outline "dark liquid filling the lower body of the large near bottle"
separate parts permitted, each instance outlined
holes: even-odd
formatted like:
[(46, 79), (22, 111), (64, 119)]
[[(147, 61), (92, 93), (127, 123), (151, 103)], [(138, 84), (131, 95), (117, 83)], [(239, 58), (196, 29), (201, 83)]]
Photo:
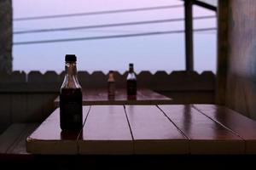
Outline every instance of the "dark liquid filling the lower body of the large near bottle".
[(82, 90), (62, 88), (60, 95), (60, 120), (62, 130), (79, 131), (83, 127)]

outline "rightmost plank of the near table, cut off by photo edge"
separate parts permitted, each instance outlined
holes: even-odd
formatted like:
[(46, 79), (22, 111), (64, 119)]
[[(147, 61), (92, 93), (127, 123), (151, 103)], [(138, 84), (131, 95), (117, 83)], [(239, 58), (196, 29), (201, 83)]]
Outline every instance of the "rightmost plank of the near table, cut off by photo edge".
[(246, 141), (246, 153), (256, 154), (256, 122), (218, 105), (194, 105), (195, 109), (211, 117), (214, 121), (223, 124), (241, 136)]

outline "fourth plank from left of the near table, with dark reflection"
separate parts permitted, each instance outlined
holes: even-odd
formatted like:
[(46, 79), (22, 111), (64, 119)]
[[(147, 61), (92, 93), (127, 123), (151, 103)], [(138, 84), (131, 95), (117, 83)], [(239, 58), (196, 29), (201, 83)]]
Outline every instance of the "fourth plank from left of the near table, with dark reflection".
[(244, 141), (190, 105), (159, 105), (189, 137), (191, 154), (243, 154)]

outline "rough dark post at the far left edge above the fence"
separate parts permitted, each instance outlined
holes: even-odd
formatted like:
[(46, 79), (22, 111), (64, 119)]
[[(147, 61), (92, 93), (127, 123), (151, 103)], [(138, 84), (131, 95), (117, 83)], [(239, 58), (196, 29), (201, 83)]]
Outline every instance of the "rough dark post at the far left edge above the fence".
[(12, 1), (0, 0), (0, 73), (12, 72), (12, 22)]

